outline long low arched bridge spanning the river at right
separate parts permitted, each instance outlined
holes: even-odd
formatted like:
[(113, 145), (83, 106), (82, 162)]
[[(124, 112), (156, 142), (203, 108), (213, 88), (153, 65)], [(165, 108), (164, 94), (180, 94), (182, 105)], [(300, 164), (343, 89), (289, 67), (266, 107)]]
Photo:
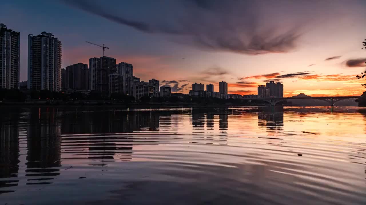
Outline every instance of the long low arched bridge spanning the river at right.
[(334, 104), (338, 101), (350, 99), (350, 98), (359, 98), (361, 96), (326, 96), (326, 97), (282, 97), (282, 98), (241, 98), (242, 100), (260, 100), (268, 102), (270, 105), (275, 106), (278, 102), (285, 100), (297, 100), (297, 99), (316, 99), (323, 100), (329, 102), (330, 106), (334, 106)]

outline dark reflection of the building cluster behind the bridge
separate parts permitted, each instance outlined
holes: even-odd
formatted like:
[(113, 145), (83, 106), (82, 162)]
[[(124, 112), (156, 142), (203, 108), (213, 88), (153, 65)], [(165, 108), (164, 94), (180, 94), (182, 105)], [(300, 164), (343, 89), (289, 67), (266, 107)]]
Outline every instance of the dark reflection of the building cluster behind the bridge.
[(283, 130), (283, 107), (258, 107), (258, 127)]

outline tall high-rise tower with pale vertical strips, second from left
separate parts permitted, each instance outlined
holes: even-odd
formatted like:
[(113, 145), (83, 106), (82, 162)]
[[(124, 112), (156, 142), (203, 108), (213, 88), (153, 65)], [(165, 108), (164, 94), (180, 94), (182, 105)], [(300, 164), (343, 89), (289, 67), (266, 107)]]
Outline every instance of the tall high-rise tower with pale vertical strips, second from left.
[(52, 33), (28, 35), (28, 89), (61, 90), (61, 41)]

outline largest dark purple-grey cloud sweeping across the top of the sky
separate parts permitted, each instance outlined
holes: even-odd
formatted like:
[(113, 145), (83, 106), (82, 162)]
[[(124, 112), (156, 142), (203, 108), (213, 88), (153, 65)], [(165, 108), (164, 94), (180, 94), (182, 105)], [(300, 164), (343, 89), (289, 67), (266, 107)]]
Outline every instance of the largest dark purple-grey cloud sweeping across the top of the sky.
[[(288, 53), (296, 48), (305, 20), (288, 18), (287, 13), (306, 4), (291, 1), (177, 1), (171, 8), (159, 5), (159, 16), (123, 17), (119, 9), (110, 9), (93, 0), (63, 0), (68, 5), (146, 33), (171, 35), (175, 42), (212, 51), (258, 55)], [(155, 2), (156, 3), (156, 2)], [(158, 3), (156, 3), (158, 4)], [(286, 7), (283, 5), (287, 5)], [(123, 5), (114, 5), (116, 8)], [(271, 11), (268, 12), (268, 8)], [(307, 11), (306, 9), (303, 9)], [(310, 10), (309, 10), (310, 11)], [(282, 13), (283, 15), (275, 15)], [(134, 19), (132, 19), (134, 18)], [(141, 20), (135, 20), (139, 18)], [(272, 19), (271, 24), (266, 19)], [(275, 18), (277, 20), (275, 20)], [(283, 19), (290, 19), (284, 21)], [(194, 22), (194, 23), (192, 23)], [(285, 23), (287, 22), (287, 23)]]

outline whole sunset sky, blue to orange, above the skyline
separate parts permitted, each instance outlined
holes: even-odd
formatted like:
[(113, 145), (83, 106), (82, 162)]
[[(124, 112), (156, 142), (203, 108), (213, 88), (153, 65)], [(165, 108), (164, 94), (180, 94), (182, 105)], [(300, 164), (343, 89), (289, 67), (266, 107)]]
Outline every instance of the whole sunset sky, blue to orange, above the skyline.
[(228, 82), (257, 94), (274, 80), (284, 96), (359, 95), (365, 70), (362, 0), (56, 0), (0, 2), (0, 23), (20, 32), (20, 81), (27, 80), (27, 35), (51, 32), (62, 66), (105, 55), (133, 65), (134, 76), (172, 92), (192, 83)]

